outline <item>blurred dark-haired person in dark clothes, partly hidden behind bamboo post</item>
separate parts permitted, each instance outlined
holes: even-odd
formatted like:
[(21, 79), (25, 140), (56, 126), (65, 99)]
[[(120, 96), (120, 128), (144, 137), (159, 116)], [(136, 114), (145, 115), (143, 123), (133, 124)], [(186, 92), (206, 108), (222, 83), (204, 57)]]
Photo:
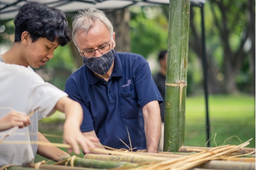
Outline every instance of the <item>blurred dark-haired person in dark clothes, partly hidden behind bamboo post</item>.
[[(153, 76), (153, 79), (157, 85), (157, 88), (165, 100), (165, 79), (166, 79), (166, 68), (167, 68), (167, 51), (160, 51), (158, 55), (158, 61), (160, 64), (159, 72)], [(163, 151), (163, 132), (164, 132), (164, 102), (160, 104), (160, 113), (161, 113), (161, 138), (159, 143), (159, 151)]]

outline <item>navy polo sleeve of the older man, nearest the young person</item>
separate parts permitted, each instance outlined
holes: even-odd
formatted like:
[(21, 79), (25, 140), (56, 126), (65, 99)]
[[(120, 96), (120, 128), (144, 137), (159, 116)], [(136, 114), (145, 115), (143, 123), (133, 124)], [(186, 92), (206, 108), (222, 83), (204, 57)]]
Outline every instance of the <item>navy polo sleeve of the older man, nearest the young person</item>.
[[(91, 115), (91, 111), (88, 108), (87, 104), (82, 100), (79, 91), (77, 89), (76, 83), (72, 78), (69, 78), (67, 80), (66, 86), (65, 86), (65, 92), (69, 94), (69, 98), (80, 103), (83, 109), (83, 120), (81, 124), (81, 131), (82, 132), (90, 132), (94, 130), (93, 126), (93, 119)], [(86, 95), (86, 94), (83, 94)]]

